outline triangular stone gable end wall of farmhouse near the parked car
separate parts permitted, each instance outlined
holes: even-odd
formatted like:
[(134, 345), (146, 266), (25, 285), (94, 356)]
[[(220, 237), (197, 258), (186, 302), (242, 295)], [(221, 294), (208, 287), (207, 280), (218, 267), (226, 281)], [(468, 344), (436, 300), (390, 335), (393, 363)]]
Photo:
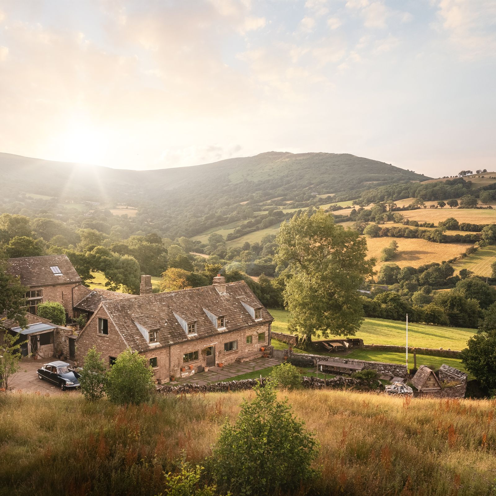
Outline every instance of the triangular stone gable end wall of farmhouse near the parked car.
[[(109, 334), (98, 333), (98, 317), (106, 318), (109, 321)], [(68, 343), (67, 343), (68, 346)], [(110, 357), (117, 357), (125, 349), (125, 343), (118, 330), (115, 328), (108, 313), (100, 307), (91, 318), (76, 339), (75, 359), (80, 365), (84, 363), (84, 357), (93, 346), (102, 354), (102, 359), (110, 365)], [(67, 350), (68, 353), (68, 350)]]

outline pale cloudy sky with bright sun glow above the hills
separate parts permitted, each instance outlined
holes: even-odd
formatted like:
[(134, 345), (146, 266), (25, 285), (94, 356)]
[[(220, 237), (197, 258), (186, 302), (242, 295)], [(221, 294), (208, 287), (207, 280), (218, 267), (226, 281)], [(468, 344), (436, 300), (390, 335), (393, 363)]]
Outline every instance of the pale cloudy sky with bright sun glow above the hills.
[(0, 152), (496, 170), (495, 0), (0, 0)]

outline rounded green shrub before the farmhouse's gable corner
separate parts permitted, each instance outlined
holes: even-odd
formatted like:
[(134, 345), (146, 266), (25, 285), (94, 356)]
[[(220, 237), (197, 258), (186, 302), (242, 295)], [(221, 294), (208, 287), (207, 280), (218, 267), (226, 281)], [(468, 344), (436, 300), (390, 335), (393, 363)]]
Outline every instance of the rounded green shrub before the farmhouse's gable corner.
[(138, 405), (147, 401), (154, 389), (153, 370), (137, 352), (121, 353), (107, 373), (105, 393), (113, 403)]

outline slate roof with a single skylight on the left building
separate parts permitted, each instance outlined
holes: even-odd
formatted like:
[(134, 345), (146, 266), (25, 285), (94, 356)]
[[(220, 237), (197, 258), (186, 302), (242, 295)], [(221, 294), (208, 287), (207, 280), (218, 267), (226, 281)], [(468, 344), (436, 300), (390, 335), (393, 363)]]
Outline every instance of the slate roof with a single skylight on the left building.
[[(55, 275), (50, 267), (59, 267), (62, 274)], [(19, 276), (21, 283), (29, 287), (81, 282), (67, 255), (9, 258), (7, 272)]]

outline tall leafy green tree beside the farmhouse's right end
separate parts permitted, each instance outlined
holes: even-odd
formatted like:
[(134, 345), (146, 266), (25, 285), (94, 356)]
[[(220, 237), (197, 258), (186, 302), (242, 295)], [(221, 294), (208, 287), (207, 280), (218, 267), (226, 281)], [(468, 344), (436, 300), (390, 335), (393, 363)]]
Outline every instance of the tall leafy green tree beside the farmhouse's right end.
[(358, 289), (374, 264), (365, 258), (366, 240), (317, 210), (283, 223), (277, 243), (276, 261), (288, 263), (294, 274), (284, 290), (290, 329), (307, 339), (316, 333), (355, 334), (364, 315)]

